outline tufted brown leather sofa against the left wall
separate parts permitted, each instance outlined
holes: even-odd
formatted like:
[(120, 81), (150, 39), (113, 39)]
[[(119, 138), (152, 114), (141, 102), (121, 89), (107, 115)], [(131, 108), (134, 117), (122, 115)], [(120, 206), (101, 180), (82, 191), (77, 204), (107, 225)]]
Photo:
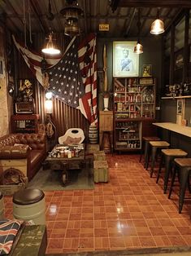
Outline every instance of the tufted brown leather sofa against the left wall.
[(46, 158), (46, 135), (11, 134), (0, 138), (0, 174), (15, 168), (32, 179)]

